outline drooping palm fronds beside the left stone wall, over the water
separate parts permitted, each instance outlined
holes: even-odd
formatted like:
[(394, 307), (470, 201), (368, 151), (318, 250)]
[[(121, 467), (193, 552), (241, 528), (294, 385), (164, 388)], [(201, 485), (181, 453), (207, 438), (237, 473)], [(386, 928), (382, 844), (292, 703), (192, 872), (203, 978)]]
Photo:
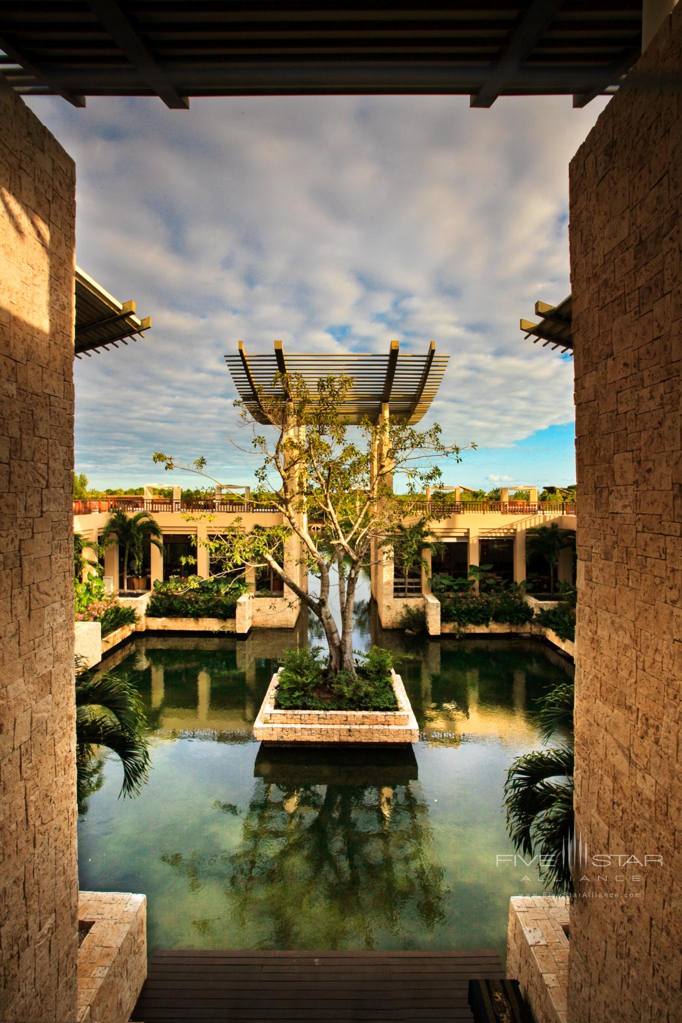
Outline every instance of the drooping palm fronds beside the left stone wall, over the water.
[(95, 747), (106, 746), (123, 764), (122, 796), (140, 791), (149, 770), (142, 701), (131, 681), (115, 671), (95, 674), (76, 659), (76, 767), (79, 812), (101, 785)]

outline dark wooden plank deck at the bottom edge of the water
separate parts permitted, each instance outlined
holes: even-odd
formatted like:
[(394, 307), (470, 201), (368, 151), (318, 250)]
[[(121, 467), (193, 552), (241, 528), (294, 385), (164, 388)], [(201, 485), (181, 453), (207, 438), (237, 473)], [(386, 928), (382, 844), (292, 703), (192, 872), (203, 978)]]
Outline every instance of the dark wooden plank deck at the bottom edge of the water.
[(160, 951), (131, 1020), (471, 1020), (469, 979), (503, 976), (489, 951)]

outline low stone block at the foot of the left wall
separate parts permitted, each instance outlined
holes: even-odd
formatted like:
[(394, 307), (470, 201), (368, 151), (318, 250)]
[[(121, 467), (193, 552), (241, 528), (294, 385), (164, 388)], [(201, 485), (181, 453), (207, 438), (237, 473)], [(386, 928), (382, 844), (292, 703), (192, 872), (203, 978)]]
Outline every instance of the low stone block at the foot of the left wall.
[(147, 900), (81, 892), (90, 930), (78, 952), (78, 1023), (128, 1023), (147, 975)]

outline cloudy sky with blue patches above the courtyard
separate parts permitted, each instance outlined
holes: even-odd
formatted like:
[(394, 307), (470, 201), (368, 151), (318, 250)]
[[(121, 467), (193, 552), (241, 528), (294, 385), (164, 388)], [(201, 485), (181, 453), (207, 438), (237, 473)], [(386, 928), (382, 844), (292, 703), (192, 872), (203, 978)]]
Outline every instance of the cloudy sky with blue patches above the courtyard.
[[(569, 161), (607, 100), (57, 98), (30, 105), (77, 165), (77, 262), (134, 299), (137, 344), (76, 360), (76, 470), (172, 480), (154, 450), (253, 484), (224, 355), (425, 353), (450, 362), (423, 426), (466, 450), (444, 481), (575, 482), (573, 364), (519, 317), (570, 292)], [(177, 474), (176, 474), (177, 475)]]

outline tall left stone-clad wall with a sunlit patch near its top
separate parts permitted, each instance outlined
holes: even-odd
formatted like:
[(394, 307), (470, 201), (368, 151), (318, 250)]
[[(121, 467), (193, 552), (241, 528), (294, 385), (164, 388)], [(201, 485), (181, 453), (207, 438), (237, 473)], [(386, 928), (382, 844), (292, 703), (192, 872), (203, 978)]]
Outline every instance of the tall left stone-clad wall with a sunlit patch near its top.
[(0, 81), (0, 1020), (77, 1015), (75, 167)]

